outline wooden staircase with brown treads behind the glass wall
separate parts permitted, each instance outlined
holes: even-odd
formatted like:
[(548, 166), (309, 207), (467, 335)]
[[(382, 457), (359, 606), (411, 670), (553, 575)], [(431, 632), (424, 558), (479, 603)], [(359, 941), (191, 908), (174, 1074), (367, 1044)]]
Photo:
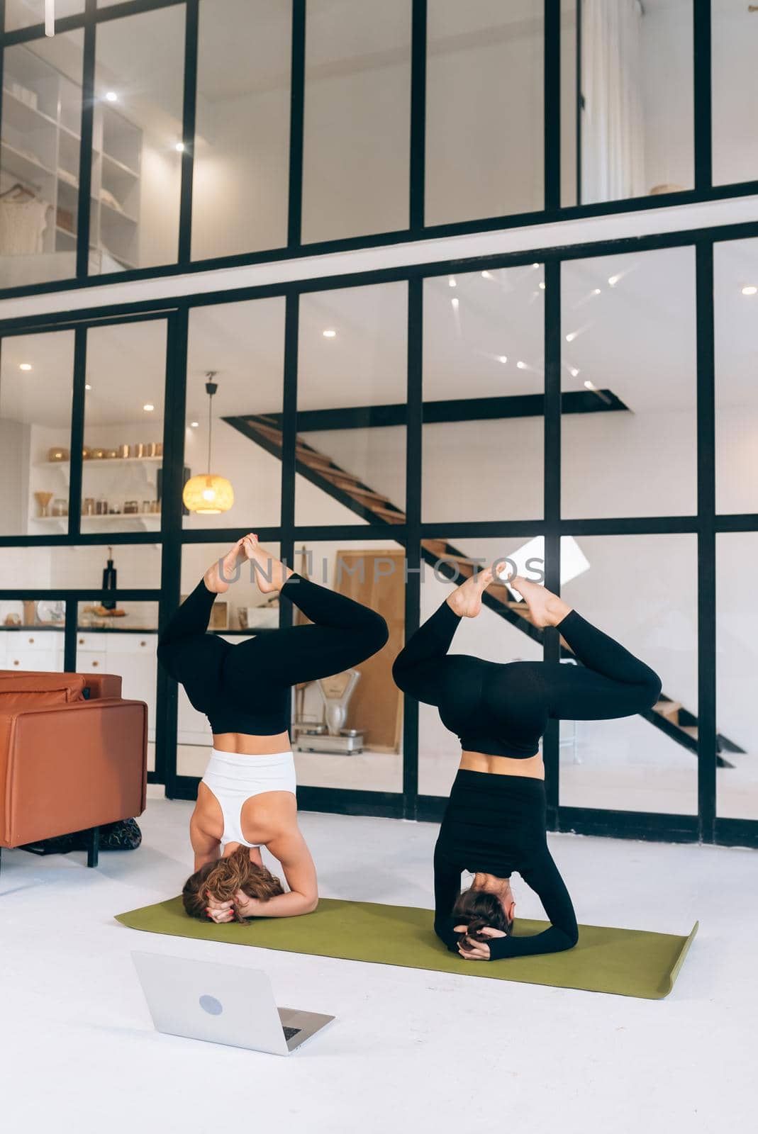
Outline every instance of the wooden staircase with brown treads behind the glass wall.
[[(266, 449), (267, 452), (281, 459), (283, 435), (277, 417), (258, 414), (225, 417), (224, 421)], [(331, 457), (314, 449), (302, 437), (297, 437), (295, 440), (295, 468), (311, 484), (370, 524), (379, 522), (391, 526), (405, 523), (405, 513), (388, 497), (374, 492), (359, 476), (342, 468)], [(471, 577), (478, 566), (475, 560), (468, 558), (458, 548), (446, 540), (422, 540), (421, 555), (424, 562), (435, 566), (440, 575), (445, 575), (452, 581), (461, 582), (463, 578)], [(482, 601), (489, 610), (495, 611), (500, 618), (505, 618), (532, 641), (542, 643), (544, 632), (532, 624), (527, 603), (516, 602), (505, 583), (494, 583), (489, 586), (482, 595)], [(565, 659), (574, 657), (563, 641), (561, 642), (561, 657)], [(698, 719), (679, 701), (662, 693), (658, 702), (640, 716), (671, 739), (697, 755)], [(744, 752), (744, 748), (717, 733), (717, 765), (732, 768), (733, 765), (722, 755), (723, 751)]]

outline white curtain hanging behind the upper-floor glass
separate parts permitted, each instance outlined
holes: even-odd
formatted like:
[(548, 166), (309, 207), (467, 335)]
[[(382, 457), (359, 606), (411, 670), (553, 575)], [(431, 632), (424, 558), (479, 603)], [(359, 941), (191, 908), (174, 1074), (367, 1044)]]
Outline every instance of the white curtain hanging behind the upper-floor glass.
[(641, 196), (639, 0), (582, 0), (582, 203)]

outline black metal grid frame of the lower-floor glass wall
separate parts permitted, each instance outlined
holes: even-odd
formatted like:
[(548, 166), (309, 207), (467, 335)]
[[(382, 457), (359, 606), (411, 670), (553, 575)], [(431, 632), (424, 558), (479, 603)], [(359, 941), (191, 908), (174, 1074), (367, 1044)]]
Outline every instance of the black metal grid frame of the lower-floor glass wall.
[[(235, 303), (270, 296), (284, 296), (284, 451), (281, 462), (281, 523), (260, 531), (262, 541), (278, 541), (281, 553), (292, 561), (297, 542), (306, 540), (340, 540), (362, 542), (367, 539), (391, 539), (406, 549), (409, 566), (418, 567), (422, 539), (544, 534), (546, 540), (547, 584), (557, 590), (561, 535), (629, 535), (687, 533), (698, 541), (698, 811), (697, 814), (664, 814), (612, 809), (570, 807), (559, 803), (559, 765), (557, 728), (548, 729), (544, 753), (548, 773), (548, 823), (550, 830), (576, 831), (586, 835), (702, 841), (723, 845), (758, 846), (758, 820), (730, 819), (716, 811), (716, 536), (722, 532), (758, 531), (758, 513), (717, 514), (715, 497), (715, 357), (714, 357), (714, 246), (725, 242), (758, 237), (758, 221), (707, 229), (665, 232), (655, 236), (621, 238), (576, 244), (559, 248), (532, 248), (527, 252), (477, 256), (401, 268), (318, 277), (292, 282), (241, 287), (222, 293), (204, 293), (174, 299), (153, 299), (111, 306), (98, 306), (70, 313), (59, 312), (33, 319), (0, 321), (0, 338), (34, 331), (70, 329), (77, 333), (75, 353), (77, 372), (75, 391), (83, 389), (89, 325), (134, 319), (167, 318), (169, 322), (168, 364), (166, 372), (165, 424), (165, 499), (161, 530), (155, 533), (112, 533), (81, 535), (74, 511), (69, 532), (57, 538), (0, 536), (2, 547), (50, 547), (74, 543), (106, 545), (108, 543), (154, 543), (162, 545), (160, 589), (123, 591), (120, 599), (159, 601), (159, 626), (176, 608), (179, 599), (182, 549), (187, 543), (229, 542), (244, 534), (243, 528), (183, 530), (180, 486), (186, 389), (186, 357), (189, 312), (199, 306)], [(561, 515), (561, 265), (563, 262), (658, 248), (693, 247), (696, 253), (697, 304), (697, 513), (677, 516), (563, 519)], [(545, 455), (544, 516), (530, 521), (485, 521), (458, 523), (424, 523), (421, 516), (422, 429), (423, 429), (423, 280), (430, 277), (464, 274), (466, 271), (495, 270), (540, 262), (545, 265)], [(407, 420), (406, 420), (406, 522), (402, 525), (302, 525), (295, 523), (295, 434), (297, 429), (297, 331), (300, 296), (335, 288), (371, 284), (406, 281), (407, 312)], [(75, 412), (83, 411), (83, 396), (75, 392)], [(79, 407), (77, 409), (77, 407)], [(74, 450), (73, 450), (74, 452)], [(81, 457), (78, 457), (81, 460)], [(81, 477), (71, 467), (71, 482)], [(465, 502), (461, 502), (462, 513)], [(71, 530), (74, 527), (74, 531)], [(406, 589), (406, 635), (419, 625), (420, 579), (411, 572)], [(57, 598), (67, 599), (66, 666), (75, 663), (76, 601), (92, 598), (92, 590), (19, 591), (0, 590), (0, 599)], [(557, 655), (557, 638), (547, 636), (545, 655)], [(157, 702), (157, 768), (150, 779), (166, 785), (171, 798), (194, 798), (197, 779), (178, 776), (176, 769), (176, 685), (159, 671)], [(298, 790), (301, 807), (339, 814), (387, 815), (391, 818), (439, 820), (445, 799), (419, 794), (418, 705), (405, 699), (403, 790), (399, 793), (361, 792), (348, 788), (303, 787)]]

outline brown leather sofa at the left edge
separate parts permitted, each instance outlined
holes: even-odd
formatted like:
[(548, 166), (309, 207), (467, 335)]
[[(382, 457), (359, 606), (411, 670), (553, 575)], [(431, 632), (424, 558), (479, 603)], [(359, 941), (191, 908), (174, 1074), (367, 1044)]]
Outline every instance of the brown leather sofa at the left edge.
[(0, 669), (0, 848), (90, 831), (141, 815), (148, 705), (111, 674)]

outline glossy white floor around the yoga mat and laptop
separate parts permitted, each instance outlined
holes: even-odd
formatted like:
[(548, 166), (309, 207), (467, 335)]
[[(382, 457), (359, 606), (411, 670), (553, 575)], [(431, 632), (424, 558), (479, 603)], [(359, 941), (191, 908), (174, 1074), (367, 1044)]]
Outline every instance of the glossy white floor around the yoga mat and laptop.
[[(157, 789), (152, 789), (153, 793)], [(153, 797), (140, 850), (2, 852), (2, 1126), (36, 1134), (541, 1134), (755, 1128), (758, 852), (550, 838), (580, 921), (685, 933), (664, 1001), (151, 937), (112, 920), (178, 892), (191, 805)], [(431, 824), (304, 814), (325, 896), (430, 903)], [(523, 883), (522, 915), (540, 916)], [(289, 1059), (157, 1034), (129, 950), (264, 968), (338, 1019)]]

